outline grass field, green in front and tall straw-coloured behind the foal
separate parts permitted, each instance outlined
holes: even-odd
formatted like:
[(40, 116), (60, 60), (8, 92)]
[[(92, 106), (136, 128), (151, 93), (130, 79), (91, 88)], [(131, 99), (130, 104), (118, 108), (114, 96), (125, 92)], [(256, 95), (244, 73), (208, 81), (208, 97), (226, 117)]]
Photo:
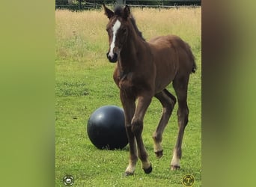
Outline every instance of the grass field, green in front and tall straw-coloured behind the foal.
[[(153, 165), (144, 174), (138, 162), (135, 174), (124, 177), (128, 147), (98, 150), (86, 132), (90, 114), (103, 105), (121, 106), (118, 88), (112, 80), (115, 64), (106, 59), (108, 19), (103, 11), (56, 10), (55, 60), (55, 186), (71, 174), (73, 186), (183, 186), (186, 174), (201, 186), (201, 8), (170, 10), (132, 8), (138, 28), (146, 40), (177, 34), (192, 47), (198, 70), (189, 82), (189, 124), (183, 138), (183, 158), (178, 171), (170, 170), (177, 138), (177, 105), (163, 134), (164, 156), (156, 159), (151, 135), (162, 112), (153, 99), (144, 118), (144, 144)], [(173, 92), (171, 85), (168, 90)]]

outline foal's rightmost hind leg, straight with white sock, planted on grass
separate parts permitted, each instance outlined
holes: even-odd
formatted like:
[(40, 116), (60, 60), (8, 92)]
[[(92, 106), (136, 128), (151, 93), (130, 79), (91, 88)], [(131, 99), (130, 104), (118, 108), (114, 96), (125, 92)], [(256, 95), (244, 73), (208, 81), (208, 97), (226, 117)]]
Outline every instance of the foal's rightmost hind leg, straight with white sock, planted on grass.
[(178, 135), (177, 141), (174, 147), (173, 157), (171, 159), (171, 170), (176, 170), (180, 168), (180, 159), (182, 155), (181, 145), (183, 141), (183, 134), (186, 127), (186, 124), (189, 121), (189, 108), (187, 105), (187, 88), (188, 88), (189, 76), (176, 78), (173, 81), (174, 91), (177, 94), (178, 100), (178, 110), (177, 110), (177, 118), (178, 118)]

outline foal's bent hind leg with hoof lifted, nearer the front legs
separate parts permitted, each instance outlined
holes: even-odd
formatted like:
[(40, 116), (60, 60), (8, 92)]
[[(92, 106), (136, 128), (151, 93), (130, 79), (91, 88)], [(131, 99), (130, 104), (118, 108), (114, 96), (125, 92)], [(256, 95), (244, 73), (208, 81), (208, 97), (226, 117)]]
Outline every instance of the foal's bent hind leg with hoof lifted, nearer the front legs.
[(166, 89), (164, 89), (160, 93), (156, 93), (155, 97), (159, 99), (162, 104), (162, 117), (159, 121), (158, 126), (156, 127), (156, 131), (153, 132), (153, 151), (155, 152), (157, 158), (161, 158), (163, 155), (163, 150), (161, 146), (162, 133), (168, 123), (168, 120), (171, 117), (171, 112), (176, 103), (176, 99), (175, 96), (169, 93)]

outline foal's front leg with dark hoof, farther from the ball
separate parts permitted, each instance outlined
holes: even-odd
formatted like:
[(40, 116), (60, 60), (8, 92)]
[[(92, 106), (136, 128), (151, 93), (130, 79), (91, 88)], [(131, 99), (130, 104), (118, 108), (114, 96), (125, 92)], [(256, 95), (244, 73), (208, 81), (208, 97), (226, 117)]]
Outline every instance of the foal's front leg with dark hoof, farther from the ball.
[(140, 96), (138, 97), (138, 104), (135, 109), (135, 114), (132, 117), (132, 133), (135, 135), (135, 139), (137, 141), (138, 146), (138, 157), (141, 159), (142, 168), (145, 174), (150, 174), (152, 171), (152, 166), (149, 160), (147, 159), (147, 151), (144, 147), (143, 140), (141, 137), (142, 130), (143, 130), (143, 119), (144, 114), (147, 111), (147, 107), (150, 105), (151, 102), (150, 96)]

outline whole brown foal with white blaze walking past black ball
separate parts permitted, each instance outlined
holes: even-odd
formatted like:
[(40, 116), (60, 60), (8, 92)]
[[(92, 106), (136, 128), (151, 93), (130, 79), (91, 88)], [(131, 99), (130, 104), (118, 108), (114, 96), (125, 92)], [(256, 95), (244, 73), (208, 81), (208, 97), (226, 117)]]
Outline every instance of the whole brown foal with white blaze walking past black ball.
[(187, 105), (189, 75), (195, 73), (196, 69), (192, 51), (186, 42), (174, 35), (145, 41), (128, 6), (115, 7), (114, 11), (109, 10), (105, 5), (103, 8), (109, 18), (106, 27), (109, 34), (107, 58), (110, 62), (118, 62), (113, 78), (120, 89), (129, 139), (129, 165), (125, 174), (134, 174), (138, 158), (141, 159), (146, 174), (152, 171), (141, 133), (144, 114), (153, 96), (162, 104), (162, 117), (156, 131), (153, 132), (153, 150), (157, 158), (162, 156), (162, 133), (176, 103), (175, 96), (166, 90), (171, 82), (177, 96), (179, 128), (171, 169), (180, 168), (181, 144), (189, 116)]

